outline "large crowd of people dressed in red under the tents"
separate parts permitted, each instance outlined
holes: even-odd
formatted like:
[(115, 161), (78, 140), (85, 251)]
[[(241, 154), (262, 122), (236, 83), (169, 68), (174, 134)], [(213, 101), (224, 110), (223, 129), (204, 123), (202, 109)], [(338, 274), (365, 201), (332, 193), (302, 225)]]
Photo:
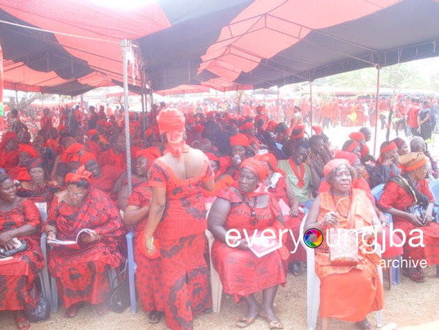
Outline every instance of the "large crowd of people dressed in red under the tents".
[[(435, 130), (431, 109), (438, 104), (430, 107), (430, 100), (423, 100), (421, 108), (416, 98), (399, 102), (408, 107), (410, 138), (382, 142), (378, 158), (369, 151), (367, 125), (352, 128), (342, 146), (332, 145), (324, 133), (345, 119), (351, 126), (366, 124), (360, 113), (370, 112), (357, 101), (349, 103), (346, 117), (347, 106), (322, 102), (321, 125), (312, 127), (304, 103), (288, 103), (288, 121), (279, 123), (264, 105), (254, 113), (252, 108), (244, 114), (185, 108), (183, 114), (162, 103), (147, 117), (130, 114), (130, 150), (123, 120), (103, 106), (98, 112), (79, 105), (45, 109), (36, 133), (11, 110), (0, 142), (0, 248), (6, 253), (0, 255), (0, 310), (14, 311), (17, 329), (31, 327), (27, 315), (43, 299), (35, 280), (44, 267), (39, 238), (45, 232), (48, 241), (77, 241), (75, 248), (49, 249), (49, 272), (66, 317), (75, 317), (84, 303), (97, 315), (107, 314), (108, 270), (123, 268), (125, 234), (134, 227), (135, 283), (149, 322), (164, 317), (166, 329), (194, 329), (194, 317), (212, 305), (206, 262), (211, 257), (224, 293), (247, 304), (238, 327), (263, 317), (269, 329), (284, 329), (275, 311), (277, 289), (288, 271), (296, 276), (302, 271), (306, 251), (295, 249), (286, 235), (277, 237), (281, 248), (258, 257), (244, 237), (267, 229), (299, 237), (305, 220), (305, 230), (337, 227), (369, 239), (379, 236), (383, 255), (364, 253), (360, 244), (355, 264), (333, 263), (326, 243), (316, 249), (322, 329), (329, 329), (331, 318), (372, 329), (367, 315), (384, 305), (380, 257), (439, 264), (439, 225), (428, 185), (439, 170), (424, 141)], [(417, 126), (410, 126), (413, 113)], [(130, 177), (127, 152), (133, 160)], [(371, 189), (380, 185), (383, 194), (376, 201)], [(35, 203), (45, 204), (45, 223)], [(206, 205), (211, 205), (208, 213)], [(385, 213), (407, 237), (400, 248), (390, 246), (390, 235), (393, 241), (402, 237), (390, 232)], [(409, 246), (414, 228), (422, 231), (424, 247)], [(215, 238), (210, 255), (206, 230)], [(232, 241), (230, 230), (239, 234)], [(17, 241), (25, 241), (26, 248), (6, 256)], [(415, 282), (425, 280), (419, 266), (402, 271)]]

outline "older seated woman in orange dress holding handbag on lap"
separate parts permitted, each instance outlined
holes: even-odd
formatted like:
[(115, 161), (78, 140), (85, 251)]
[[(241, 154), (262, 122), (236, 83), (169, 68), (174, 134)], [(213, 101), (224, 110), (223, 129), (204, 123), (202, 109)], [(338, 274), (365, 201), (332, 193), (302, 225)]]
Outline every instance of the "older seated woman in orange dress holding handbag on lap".
[[(324, 167), (330, 190), (320, 193), (309, 210), (305, 232), (316, 228), (325, 232), (329, 227), (362, 230), (364, 239), (371, 238), (382, 226), (363, 190), (352, 188), (354, 170), (346, 159), (331, 160)], [(373, 229), (372, 227), (373, 226)], [(331, 264), (325, 240), (316, 248), (316, 273), (321, 280), (321, 329), (328, 330), (330, 318), (356, 322), (360, 329), (372, 329), (367, 314), (383, 308), (383, 285), (377, 264), (378, 256), (365, 253), (360, 236), (356, 266)]]

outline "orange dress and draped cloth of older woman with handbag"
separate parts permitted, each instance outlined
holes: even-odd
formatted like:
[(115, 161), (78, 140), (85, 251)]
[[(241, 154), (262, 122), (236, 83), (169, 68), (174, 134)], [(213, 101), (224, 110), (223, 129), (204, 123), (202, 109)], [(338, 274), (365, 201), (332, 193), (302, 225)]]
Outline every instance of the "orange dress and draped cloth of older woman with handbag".
[[(328, 191), (320, 193), (320, 197), (318, 222), (323, 221), (329, 211), (335, 211), (340, 199)], [(348, 218), (339, 216), (339, 227), (358, 229), (371, 225), (372, 212), (373, 207), (366, 193), (353, 189), (350, 212), (346, 209), (349, 216)], [(323, 232), (323, 237), (325, 236), (326, 232)], [(348, 322), (360, 322), (367, 314), (383, 308), (383, 284), (377, 269), (379, 257), (375, 254), (364, 254), (361, 248), (358, 251), (360, 262), (356, 266), (334, 266), (330, 263), (326, 239), (323, 239), (322, 245), (316, 248), (316, 273), (321, 280), (322, 318), (332, 317)]]

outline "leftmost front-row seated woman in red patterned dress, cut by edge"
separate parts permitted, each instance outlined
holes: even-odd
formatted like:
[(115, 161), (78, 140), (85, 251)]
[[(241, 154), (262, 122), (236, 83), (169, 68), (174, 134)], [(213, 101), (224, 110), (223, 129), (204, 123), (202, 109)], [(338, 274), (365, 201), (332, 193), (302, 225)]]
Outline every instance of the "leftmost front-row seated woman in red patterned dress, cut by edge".
[[(15, 238), (26, 241), (27, 249), (0, 259), (0, 310), (14, 310), (17, 329), (31, 327), (24, 310), (39, 301), (34, 280), (44, 268), (40, 250), (41, 218), (31, 200), (17, 197), (13, 180), (0, 174), (0, 248), (14, 248)], [(17, 262), (17, 260), (20, 260)]]

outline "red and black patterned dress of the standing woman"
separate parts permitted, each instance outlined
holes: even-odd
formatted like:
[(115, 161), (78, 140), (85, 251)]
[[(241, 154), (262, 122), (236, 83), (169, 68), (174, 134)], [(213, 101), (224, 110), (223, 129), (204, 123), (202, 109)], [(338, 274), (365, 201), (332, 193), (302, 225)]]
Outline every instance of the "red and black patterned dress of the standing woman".
[(194, 329), (193, 317), (212, 306), (204, 252), (207, 228), (201, 182), (213, 179), (208, 160), (199, 177), (179, 180), (156, 159), (149, 171), (151, 187), (166, 187), (166, 205), (154, 237), (160, 239), (164, 314), (172, 330)]

